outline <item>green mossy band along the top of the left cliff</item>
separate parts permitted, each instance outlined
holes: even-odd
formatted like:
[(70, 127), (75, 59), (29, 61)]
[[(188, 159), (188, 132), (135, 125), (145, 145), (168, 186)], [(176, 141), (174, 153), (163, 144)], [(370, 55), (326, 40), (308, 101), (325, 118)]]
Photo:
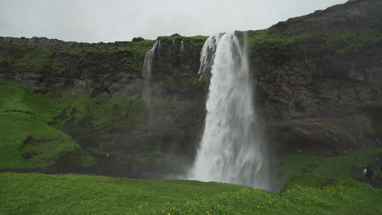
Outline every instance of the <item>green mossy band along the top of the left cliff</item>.
[(73, 49), (41, 49), (27, 46), (15, 46), (0, 43), (0, 49), (9, 53), (6, 58), (0, 58), (0, 64), (5, 63), (11, 68), (8, 76), (16, 72), (62, 72), (77, 71), (87, 68), (99, 72), (128, 71), (141, 72), (144, 56), (154, 41), (124, 42), (119, 46), (84, 46)]

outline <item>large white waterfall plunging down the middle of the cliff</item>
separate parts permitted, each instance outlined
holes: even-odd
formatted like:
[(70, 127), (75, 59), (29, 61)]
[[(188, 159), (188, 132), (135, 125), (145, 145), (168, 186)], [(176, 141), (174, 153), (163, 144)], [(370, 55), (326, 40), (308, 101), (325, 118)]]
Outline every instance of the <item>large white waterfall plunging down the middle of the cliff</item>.
[(265, 189), (265, 144), (255, 123), (253, 81), (246, 49), (234, 33), (207, 39), (199, 73), (209, 72), (205, 128), (189, 179)]

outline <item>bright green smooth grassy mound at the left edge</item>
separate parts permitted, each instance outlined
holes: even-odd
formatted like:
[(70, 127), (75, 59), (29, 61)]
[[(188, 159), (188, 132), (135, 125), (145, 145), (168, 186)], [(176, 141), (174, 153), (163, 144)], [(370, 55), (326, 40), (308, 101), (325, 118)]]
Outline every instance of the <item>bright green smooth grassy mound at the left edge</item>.
[[(60, 114), (57, 100), (28, 87), (0, 80), (0, 168), (57, 167), (56, 160), (79, 148), (71, 137), (47, 125)], [(23, 153), (39, 153), (25, 161), (20, 153), (28, 137), (37, 142)]]

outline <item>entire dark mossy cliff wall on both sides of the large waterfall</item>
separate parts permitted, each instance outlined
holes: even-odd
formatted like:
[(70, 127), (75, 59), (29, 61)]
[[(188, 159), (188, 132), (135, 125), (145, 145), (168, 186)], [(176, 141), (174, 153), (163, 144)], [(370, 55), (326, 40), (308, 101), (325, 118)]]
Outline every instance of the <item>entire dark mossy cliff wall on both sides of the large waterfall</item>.
[[(269, 29), (236, 32), (243, 41), (248, 36), (255, 106), (270, 143), (345, 150), (382, 135), (381, 20), (379, 0), (353, 0)], [(56, 96), (94, 98), (87, 107), (71, 105), (52, 125), (79, 144), (186, 151), (198, 142), (205, 116), (208, 80), (199, 81), (197, 71), (206, 38), (158, 37), (152, 112), (140, 105), (146, 104), (144, 55), (155, 41), (87, 44), (0, 37), (0, 78)], [(102, 116), (89, 106), (109, 102), (112, 108), (104, 108), (108, 122), (98, 122)], [(133, 122), (121, 122), (126, 119)]]

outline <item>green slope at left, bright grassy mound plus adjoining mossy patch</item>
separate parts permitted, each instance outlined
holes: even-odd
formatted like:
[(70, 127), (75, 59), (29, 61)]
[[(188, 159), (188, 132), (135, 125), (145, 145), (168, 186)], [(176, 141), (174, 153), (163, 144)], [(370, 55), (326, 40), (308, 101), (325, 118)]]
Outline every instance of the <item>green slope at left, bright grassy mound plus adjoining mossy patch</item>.
[(60, 131), (65, 124), (76, 129), (74, 124), (86, 123), (79, 130), (86, 136), (143, 126), (139, 123), (147, 113), (140, 99), (89, 98), (73, 91), (55, 98), (40, 90), (0, 80), (0, 169), (77, 169), (81, 160), (83, 167), (91, 166), (95, 161), (89, 153)]

